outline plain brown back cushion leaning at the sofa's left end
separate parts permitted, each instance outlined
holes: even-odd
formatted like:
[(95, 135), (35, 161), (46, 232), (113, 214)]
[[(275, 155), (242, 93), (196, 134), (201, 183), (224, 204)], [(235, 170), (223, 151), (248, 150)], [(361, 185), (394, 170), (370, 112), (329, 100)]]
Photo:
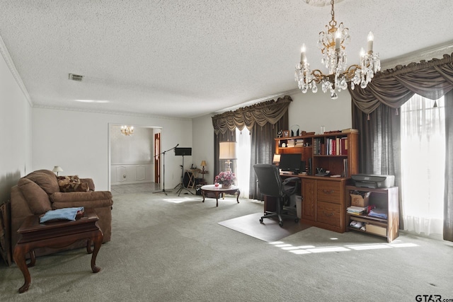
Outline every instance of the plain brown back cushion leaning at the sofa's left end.
[(52, 209), (49, 195), (38, 184), (28, 178), (21, 178), (17, 185), (33, 214), (42, 214)]

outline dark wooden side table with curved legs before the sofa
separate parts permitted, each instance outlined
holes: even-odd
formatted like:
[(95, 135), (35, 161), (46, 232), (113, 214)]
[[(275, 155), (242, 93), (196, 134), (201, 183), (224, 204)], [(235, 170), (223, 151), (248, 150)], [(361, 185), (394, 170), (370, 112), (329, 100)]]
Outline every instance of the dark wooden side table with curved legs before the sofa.
[[(28, 216), (18, 229), (21, 238), (18, 240), (13, 252), (13, 259), (21, 269), (25, 283), (19, 293), (28, 291), (31, 283), (28, 267), (35, 266), (35, 248), (62, 248), (78, 240), (86, 240), (86, 251), (91, 255), (91, 270), (96, 273), (101, 267), (96, 266), (96, 256), (101, 248), (103, 233), (98, 227), (98, 216), (94, 209), (85, 209), (81, 219), (75, 221), (59, 221), (40, 223), (38, 215)], [(94, 250), (91, 250), (91, 243)], [(25, 256), (30, 253), (30, 263), (25, 263)]]

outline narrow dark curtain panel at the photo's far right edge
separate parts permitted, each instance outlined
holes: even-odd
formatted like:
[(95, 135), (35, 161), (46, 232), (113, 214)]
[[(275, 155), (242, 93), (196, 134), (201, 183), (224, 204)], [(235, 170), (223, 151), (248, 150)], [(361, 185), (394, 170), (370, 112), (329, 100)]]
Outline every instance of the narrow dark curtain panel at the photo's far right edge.
[(453, 241), (453, 91), (445, 95), (444, 239)]

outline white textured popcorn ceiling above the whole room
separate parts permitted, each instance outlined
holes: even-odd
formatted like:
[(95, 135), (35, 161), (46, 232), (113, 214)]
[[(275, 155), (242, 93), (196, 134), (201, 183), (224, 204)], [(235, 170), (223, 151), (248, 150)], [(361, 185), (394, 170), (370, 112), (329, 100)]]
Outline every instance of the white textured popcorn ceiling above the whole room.
[[(296, 89), (302, 42), (311, 68), (324, 70), (316, 41), (330, 6), (306, 2), (0, 0), (2, 53), (36, 107), (196, 117)], [(348, 63), (358, 63), (369, 30), (386, 68), (414, 51), (450, 51), (452, 6), (340, 1), (335, 17), (350, 29)], [(69, 73), (84, 80), (69, 81)]]

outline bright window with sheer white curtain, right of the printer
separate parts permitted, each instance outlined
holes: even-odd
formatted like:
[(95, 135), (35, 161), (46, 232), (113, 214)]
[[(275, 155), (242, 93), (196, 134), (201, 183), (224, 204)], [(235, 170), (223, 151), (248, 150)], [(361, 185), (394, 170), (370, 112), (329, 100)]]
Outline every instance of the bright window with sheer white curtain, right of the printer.
[(406, 231), (442, 234), (445, 102), (414, 95), (401, 106), (401, 197)]

